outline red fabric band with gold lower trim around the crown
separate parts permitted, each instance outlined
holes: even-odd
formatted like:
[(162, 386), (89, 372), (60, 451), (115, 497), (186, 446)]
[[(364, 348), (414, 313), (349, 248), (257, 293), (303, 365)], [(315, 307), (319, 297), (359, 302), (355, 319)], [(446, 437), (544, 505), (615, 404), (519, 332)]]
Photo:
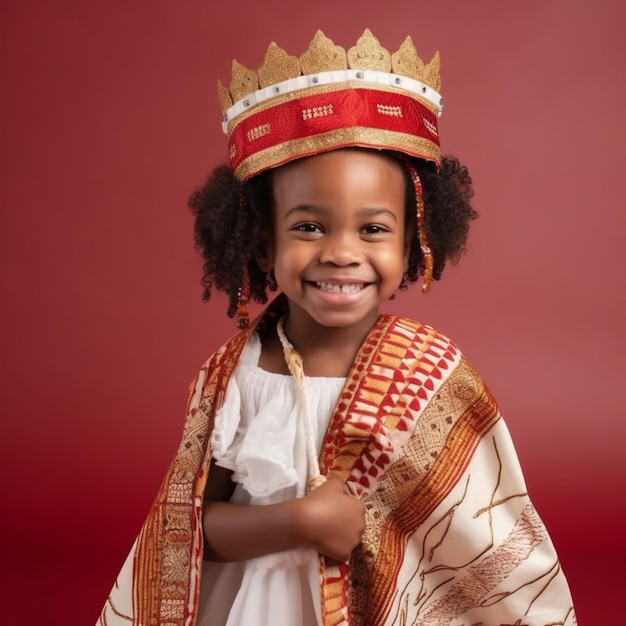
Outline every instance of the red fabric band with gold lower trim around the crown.
[(401, 93), (348, 88), (289, 97), (236, 123), (231, 165), (241, 179), (265, 169), (348, 146), (399, 150), (439, 161), (437, 115)]

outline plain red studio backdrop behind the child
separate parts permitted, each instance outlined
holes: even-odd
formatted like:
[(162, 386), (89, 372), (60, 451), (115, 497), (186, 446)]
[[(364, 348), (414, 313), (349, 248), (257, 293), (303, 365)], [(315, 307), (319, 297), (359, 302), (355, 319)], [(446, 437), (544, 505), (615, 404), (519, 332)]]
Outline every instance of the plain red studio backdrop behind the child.
[[(172, 457), (187, 385), (234, 331), (200, 300), (186, 199), (226, 155), (215, 83), (270, 39), (372, 28), (441, 50), (470, 253), (391, 308), (491, 386), (581, 624), (616, 623), (626, 348), (620, 1), (2, 3), (3, 624), (95, 621)], [(621, 590), (621, 585), (619, 586)], [(615, 594), (615, 595), (614, 595)], [(43, 618), (43, 619), (42, 619)]]

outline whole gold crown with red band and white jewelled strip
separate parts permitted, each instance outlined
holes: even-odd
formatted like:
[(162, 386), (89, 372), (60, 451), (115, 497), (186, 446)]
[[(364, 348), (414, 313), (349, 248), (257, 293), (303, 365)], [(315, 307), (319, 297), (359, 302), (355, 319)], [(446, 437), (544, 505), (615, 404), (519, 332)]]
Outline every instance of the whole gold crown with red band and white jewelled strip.
[(240, 180), (347, 147), (441, 162), (439, 53), (424, 63), (407, 37), (391, 54), (365, 29), (347, 52), (318, 30), (300, 57), (270, 43), (257, 70), (233, 61), (218, 81), (229, 157)]

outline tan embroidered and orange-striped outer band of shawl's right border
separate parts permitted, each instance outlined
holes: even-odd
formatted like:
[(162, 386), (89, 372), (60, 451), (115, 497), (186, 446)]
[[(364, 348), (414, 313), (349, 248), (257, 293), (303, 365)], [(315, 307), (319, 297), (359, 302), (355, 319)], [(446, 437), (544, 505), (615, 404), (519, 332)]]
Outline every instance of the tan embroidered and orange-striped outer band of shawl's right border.
[[(444, 391), (445, 401), (439, 402)], [(451, 408), (442, 410), (444, 407)], [(369, 581), (367, 623), (384, 622), (408, 536), (454, 487), (485, 433), (499, 419), (491, 393), (462, 359), (420, 416), (406, 453), (390, 470), (387, 484), (371, 495), (372, 509), (383, 510), (380, 519), (384, 525), (368, 519), (373, 537), (367, 541), (371, 554), (364, 560), (376, 574)], [(396, 500), (390, 501), (388, 494), (395, 494)]]

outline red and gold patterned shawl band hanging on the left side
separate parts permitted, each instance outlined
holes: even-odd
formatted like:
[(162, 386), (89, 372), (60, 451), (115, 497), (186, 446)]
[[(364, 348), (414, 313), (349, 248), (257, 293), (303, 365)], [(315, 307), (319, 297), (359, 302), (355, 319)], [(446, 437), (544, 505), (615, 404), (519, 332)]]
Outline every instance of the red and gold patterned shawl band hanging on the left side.
[(215, 411), (253, 328), (202, 367), (190, 388), (181, 444), (139, 534), (133, 566), (133, 626), (190, 626), (202, 566), (202, 496)]

